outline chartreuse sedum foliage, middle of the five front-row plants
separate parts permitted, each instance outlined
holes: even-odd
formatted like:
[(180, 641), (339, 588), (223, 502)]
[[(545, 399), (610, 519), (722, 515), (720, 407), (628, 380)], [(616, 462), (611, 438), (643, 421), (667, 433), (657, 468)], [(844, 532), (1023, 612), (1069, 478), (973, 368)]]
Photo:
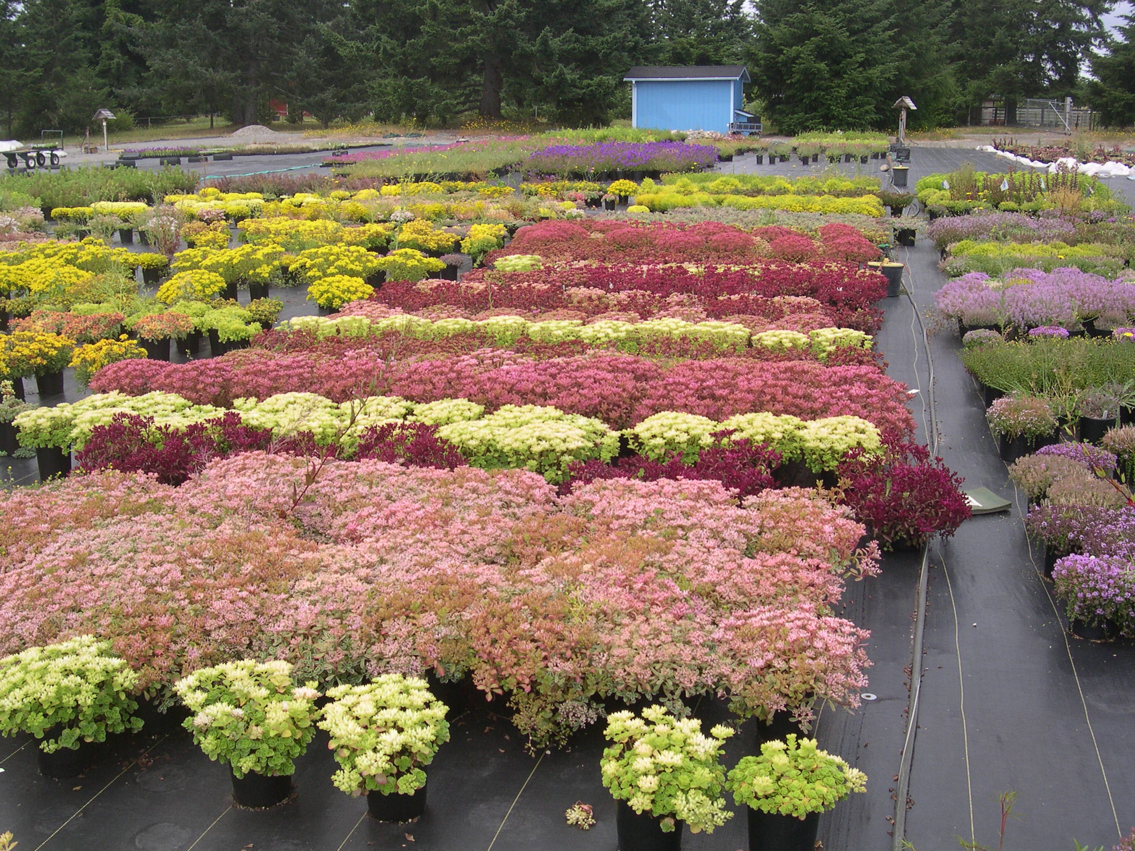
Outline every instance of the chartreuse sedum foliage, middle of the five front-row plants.
[(319, 727), (330, 734), (339, 770), (337, 789), (413, 794), (426, 785), (423, 766), (449, 741), (448, 707), (430, 693), (424, 680), (382, 674), (365, 685), (338, 685)]

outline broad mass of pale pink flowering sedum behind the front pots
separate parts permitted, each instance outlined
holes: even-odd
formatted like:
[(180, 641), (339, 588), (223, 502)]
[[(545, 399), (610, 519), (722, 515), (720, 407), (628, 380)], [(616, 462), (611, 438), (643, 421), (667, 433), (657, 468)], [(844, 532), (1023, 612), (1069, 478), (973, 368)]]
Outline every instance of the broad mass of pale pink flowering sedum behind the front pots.
[(857, 700), (866, 633), (831, 607), (874, 554), (815, 491), (741, 507), (717, 482), (613, 480), (557, 498), (533, 473), (378, 461), (329, 461), (305, 488), (311, 463), (252, 452), (176, 491), (107, 472), (0, 497), (0, 652), (91, 632), (167, 694), (245, 657), (323, 684), (468, 672), (537, 743), (605, 697)]

